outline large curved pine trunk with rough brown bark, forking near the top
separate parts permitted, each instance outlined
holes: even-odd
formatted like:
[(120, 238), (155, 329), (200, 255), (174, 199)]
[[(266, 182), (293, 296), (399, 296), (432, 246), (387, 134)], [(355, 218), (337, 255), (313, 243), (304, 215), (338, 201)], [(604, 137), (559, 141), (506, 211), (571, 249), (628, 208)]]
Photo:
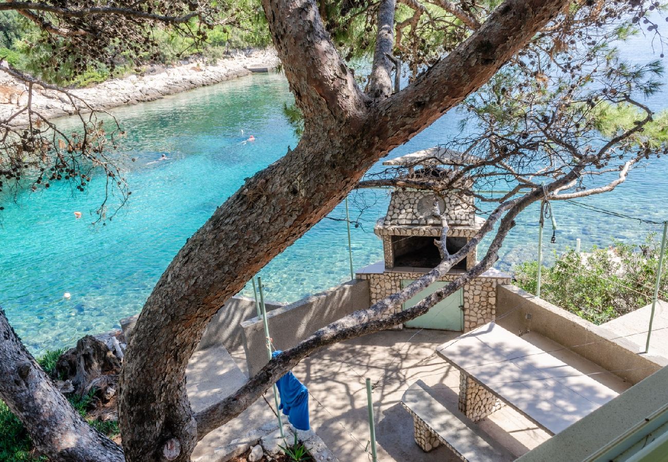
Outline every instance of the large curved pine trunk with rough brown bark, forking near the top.
[(222, 302), (341, 202), (374, 162), (487, 81), (566, 3), (504, 3), (422, 79), (373, 105), (337, 55), (313, 0), (264, 1), (305, 134), (216, 210), (148, 298), (121, 375), (128, 461), (188, 459), (197, 432), (185, 369)]

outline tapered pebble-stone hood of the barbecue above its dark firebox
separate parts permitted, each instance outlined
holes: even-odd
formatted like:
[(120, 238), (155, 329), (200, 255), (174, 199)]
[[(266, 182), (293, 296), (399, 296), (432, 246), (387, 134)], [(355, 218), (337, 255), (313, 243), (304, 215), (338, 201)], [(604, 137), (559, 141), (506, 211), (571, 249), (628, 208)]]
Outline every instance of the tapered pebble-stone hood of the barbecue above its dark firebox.
[(475, 208), (472, 196), (448, 194), (445, 200), (424, 191), (397, 190), (392, 192), (389, 208), (385, 216), (385, 226), (431, 225), (441, 226), (440, 219), (434, 218), (434, 202), (438, 200), (441, 211), (446, 211), (450, 226), (472, 226)]

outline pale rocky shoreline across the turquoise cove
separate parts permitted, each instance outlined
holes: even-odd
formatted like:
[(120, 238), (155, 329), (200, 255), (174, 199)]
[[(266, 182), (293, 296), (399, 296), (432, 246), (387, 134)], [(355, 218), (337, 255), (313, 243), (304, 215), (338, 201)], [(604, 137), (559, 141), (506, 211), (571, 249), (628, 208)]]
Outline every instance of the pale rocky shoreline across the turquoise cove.
[[(75, 97), (81, 98), (76, 104), (83, 112), (90, 110), (83, 101), (94, 110), (108, 110), (154, 101), (166, 95), (251, 75), (248, 68), (273, 69), (279, 62), (274, 49), (234, 50), (214, 64), (196, 59), (181, 61), (178, 65), (148, 65), (139, 74), (68, 91)], [(27, 99), (27, 84), (11, 77), (4, 77), (0, 81), (0, 120), (9, 119), (25, 107)], [(47, 119), (71, 116), (77, 109), (65, 93), (45, 89), (41, 85), (33, 86), (31, 106)], [(21, 113), (11, 120), (11, 125), (23, 126), (26, 122), (25, 113)]]

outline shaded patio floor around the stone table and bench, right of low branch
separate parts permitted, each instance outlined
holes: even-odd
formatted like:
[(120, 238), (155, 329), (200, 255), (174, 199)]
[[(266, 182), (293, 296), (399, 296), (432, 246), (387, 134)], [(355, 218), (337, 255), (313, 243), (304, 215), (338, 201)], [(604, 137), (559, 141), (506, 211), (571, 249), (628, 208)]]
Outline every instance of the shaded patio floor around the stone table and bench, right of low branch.
[[(424, 453), (413, 441), (412, 418), (399, 404), (405, 389), (418, 379), (457, 403), (459, 373), (434, 353), (436, 346), (458, 334), (439, 330), (419, 333), (415, 329), (386, 330), (335, 344), (311, 355), (293, 372), (323, 404), (319, 406), (311, 400), (311, 423), (316, 433), (341, 461), (368, 461), (363, 447), (369, 439), (365, 389), (365, 377), (369, 377), (372, 383), (379, 381), (373, 391), (379, 461), (458, 460), (444, 447)], [(538, 334), (526, 334), (522, 338), (542, 349), (560, 348)], [(584, 374), (603, 371), (570, 351), (553, 355)], [(594, 377), (620, 393), (628, 388), (612, 374)], [(478, 425), (515, 455), (526, 453), (550, 437), (507, 406)]]

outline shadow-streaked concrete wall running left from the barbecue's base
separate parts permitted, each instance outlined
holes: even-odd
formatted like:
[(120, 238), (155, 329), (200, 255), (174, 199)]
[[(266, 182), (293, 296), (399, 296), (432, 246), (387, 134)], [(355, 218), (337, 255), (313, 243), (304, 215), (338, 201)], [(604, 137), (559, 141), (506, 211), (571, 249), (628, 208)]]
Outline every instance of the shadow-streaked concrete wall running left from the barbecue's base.
[[(355, 310), (369, 308), (369, 281), (351, 280), (331, 290), (267, 313), (269, 334), (275, 348), (289, 349), (316, 330)], [(248, 375), (267, 364), (265, 327), (257, 316), (241, 323)]]

